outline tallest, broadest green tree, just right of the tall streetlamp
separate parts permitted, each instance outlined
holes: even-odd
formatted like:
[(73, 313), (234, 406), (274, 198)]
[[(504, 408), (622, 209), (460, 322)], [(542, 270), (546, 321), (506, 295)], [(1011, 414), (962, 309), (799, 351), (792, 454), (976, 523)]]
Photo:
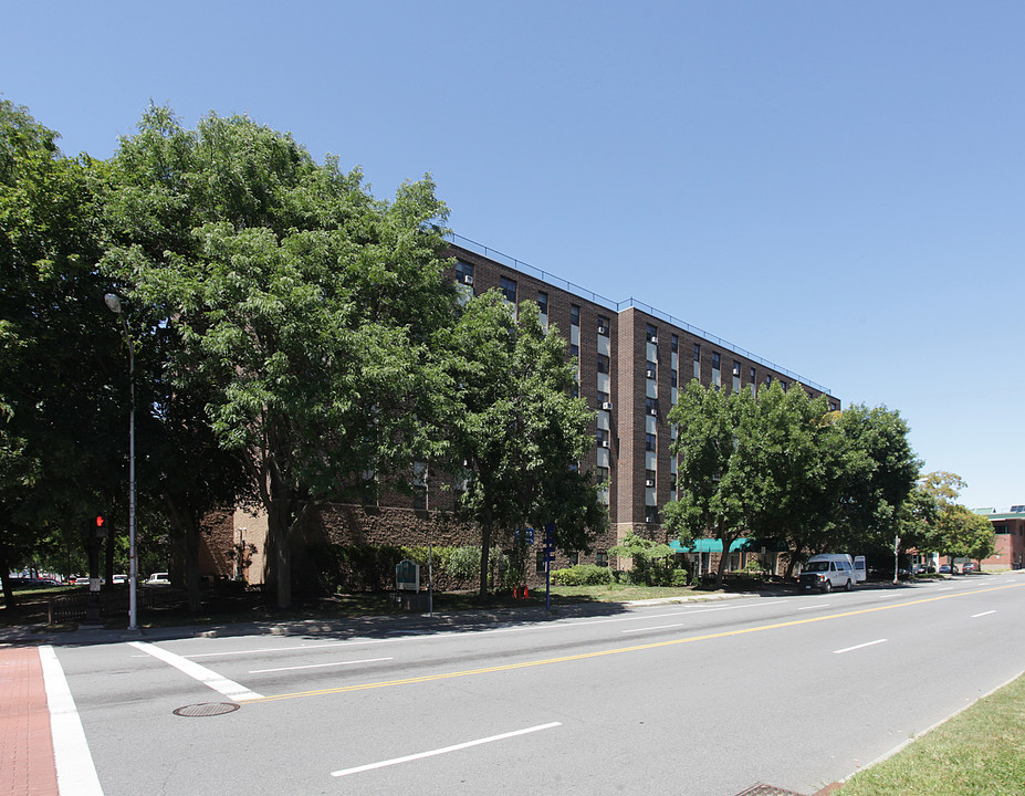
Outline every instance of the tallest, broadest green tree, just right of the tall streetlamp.
[[(208, 422), (268, 515), (278, 605), (310, 511), (429, 458), (442, 378), (429, 346), (449, 323), (447, 210), (429, 179), (393, 202), (358, 170), (315, 163), (245, 117), (185, 129), (150, 108), (114, 158), (112, 273), (167, 306), (169, 368), (209, 388)], [(381, 478), (367, 481), (374, 469)], [(398, 475), (396, 475), (398, 478)]]

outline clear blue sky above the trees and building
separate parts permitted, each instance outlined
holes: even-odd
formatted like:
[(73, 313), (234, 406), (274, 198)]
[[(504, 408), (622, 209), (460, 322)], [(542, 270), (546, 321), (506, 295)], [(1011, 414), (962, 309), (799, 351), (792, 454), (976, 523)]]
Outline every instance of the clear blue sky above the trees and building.
[(108, 157), (150, 100), (430, 172), (456, 232), (898, 409), (1025, 503), (1025, 3), (8, 3), (0, 91)]

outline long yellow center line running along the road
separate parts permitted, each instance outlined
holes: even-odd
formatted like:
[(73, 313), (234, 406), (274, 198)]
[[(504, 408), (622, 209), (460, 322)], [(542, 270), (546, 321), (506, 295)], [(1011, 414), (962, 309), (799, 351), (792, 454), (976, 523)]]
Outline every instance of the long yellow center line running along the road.
[(740, 630), (722, 630), (703, 636), (688, 636), (681, 639), (670, 639), (669, 641), (653, 641), (646, 645), (634, 647), (617, 647), (615, 649), (600, 650), (598, 652), (582, 652), (579, 654), (563, 656), (561, 658), (544, 658), (542, 660), (523, 661), (522, 663), (502, 663), (500, 666), (484, 667), (482, 669), (464, 669), (462, 671), (442, 672), (439, 674), (425, 674), (416, 678), (405, 678), (401, 680), (383, 680), (380, 682), (359, 683), (357, 685), (339, 685), (337, 688), (317, 689), (316, 691), (297, 691), (295, 693), (284, 693), (262, 699), (237, 700), (241, 704), (254, 704), (260, 702), (276, 702), (280, 700), (299, 699), (300, 696), (324, 696), (327, 694), (349, 693), (351, 691), (367, 691), (376, 688), (390, 688), (393, 685), (410, 685), (412, 683), (433, 682), (436, 680), (451, 680), (452, 678), (470, 677), (473, 674), (490, 674), (500, 671), (513, 671), (515, 669), (529, 669), (531, 667), (550, 666), (552, 663), (566, 663), (568, 661), (587, 660), (589, 658), (602, 658), (604, 656), (621, 654), (624, 652), (639, 652), (641, 650), (658, 649), (660, 647), (672, 647), (674, 645), (691, 643), (692, 641), (708, 641), (717, 638), (726, 638), (729, 636), (743, 636), (752, 632), (763, 632), (765, 630), (777, 630), (780, 628), (795, 627), (797, 625), (810, 625), (812, 622), (827, 621), (829, 619), (843, 619), (845, 617), (859, 616), (861, 614), (874, 614), (876, 611), (892, 610), (893, 608), (907, 608), (925, 603), (935, 603), (938, 600), (953, 599), (954, 597), (970, 597), (987, 591), (1000, 591), (1008, 588), (1021, 588), (1025, 584), (1011, 584), (1007, 586), (994, 586), (985, 589), (973, 589), (971, 591), (961, 591), (952, 595), (941, 595), (939, 597), (923, 597), (922, 599), (908, 600), (906, 603), (896, 603), (885, 606), (875, 606), (874, 608), (860, 608), (858, 610), (844, 611), (841, 614), (827, 614), (819, 617), (807, 617), (805, 619), (791, 619), (784, 622), (774, 622), (772, 625), (759, 625)]

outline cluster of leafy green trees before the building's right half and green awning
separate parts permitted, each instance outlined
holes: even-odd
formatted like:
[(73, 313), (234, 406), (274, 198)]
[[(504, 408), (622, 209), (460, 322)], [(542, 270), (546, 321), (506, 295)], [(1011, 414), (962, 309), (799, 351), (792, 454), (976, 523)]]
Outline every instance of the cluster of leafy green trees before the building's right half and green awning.
[(792, 565), (877, 545), (896, 528), (918, 472), (899, 413), (830, 411), (824, 397), (778, 383), (755, 397), (691, 381), (669, 422), (679, 489), (663, 510), (669, 530), (684, 543), (711, 534), (723, 551), (744, 536), (783, 542)]

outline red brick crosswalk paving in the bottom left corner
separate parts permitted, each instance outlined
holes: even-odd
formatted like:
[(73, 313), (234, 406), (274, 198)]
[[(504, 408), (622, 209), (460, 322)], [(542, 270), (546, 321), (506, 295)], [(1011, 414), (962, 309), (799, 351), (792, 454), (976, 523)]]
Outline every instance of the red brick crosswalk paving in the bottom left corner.
[(39, 648), (0, 647), (0, 796), (59, 796)]

